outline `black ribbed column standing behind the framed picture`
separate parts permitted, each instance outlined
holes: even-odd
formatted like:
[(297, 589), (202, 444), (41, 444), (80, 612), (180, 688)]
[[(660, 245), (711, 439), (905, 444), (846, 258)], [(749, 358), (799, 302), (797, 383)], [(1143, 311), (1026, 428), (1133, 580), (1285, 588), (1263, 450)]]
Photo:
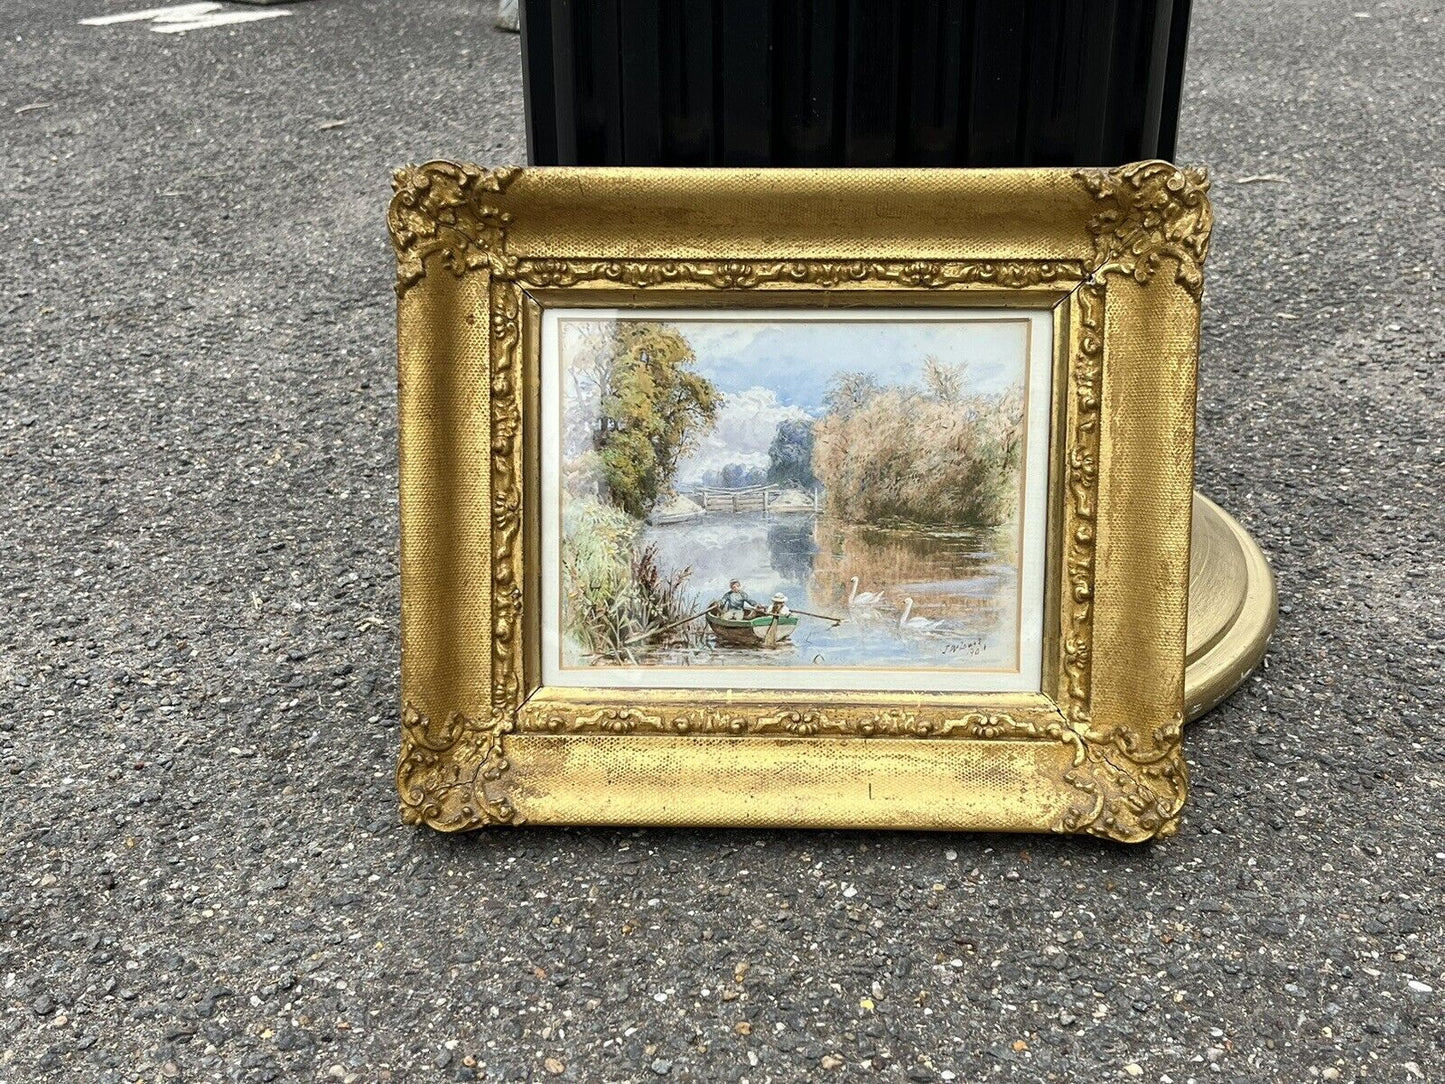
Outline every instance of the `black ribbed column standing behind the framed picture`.
[(523, 0), (538, 165), (1170, 158), (1189, 0)]

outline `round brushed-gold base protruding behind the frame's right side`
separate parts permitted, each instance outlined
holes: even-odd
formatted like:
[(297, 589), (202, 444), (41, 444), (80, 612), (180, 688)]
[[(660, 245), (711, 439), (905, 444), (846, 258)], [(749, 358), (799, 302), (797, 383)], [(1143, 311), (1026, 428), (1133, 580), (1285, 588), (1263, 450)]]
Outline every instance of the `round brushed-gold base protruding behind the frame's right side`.
[(1230, 513), (1194, 494), (1185, 715), (1196, 720), (1237, 689), (1264, 658), (1279, 617), (1274, 572)]

